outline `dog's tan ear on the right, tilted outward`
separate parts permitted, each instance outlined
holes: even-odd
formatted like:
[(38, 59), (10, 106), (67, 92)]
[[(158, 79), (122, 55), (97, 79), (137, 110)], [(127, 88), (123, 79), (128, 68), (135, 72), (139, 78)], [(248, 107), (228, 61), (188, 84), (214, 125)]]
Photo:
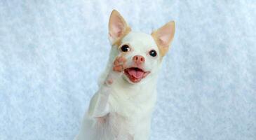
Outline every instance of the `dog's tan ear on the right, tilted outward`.
[(169, 45), (173, 41), (173, 36), (175, 34), (175, 22), (171, 21), (163, 25), (163, 27), (153, 31), (151, 36), (153, 36), (156, 41), (156, 45), (159, 47), (161, 56), (166, 55), (168, 52)]

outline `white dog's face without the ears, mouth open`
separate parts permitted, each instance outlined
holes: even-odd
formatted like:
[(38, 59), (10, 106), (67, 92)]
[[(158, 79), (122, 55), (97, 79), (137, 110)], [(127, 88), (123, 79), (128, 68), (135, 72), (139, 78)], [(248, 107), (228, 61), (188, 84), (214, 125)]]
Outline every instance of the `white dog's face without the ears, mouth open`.
[(130, 83), (138, 83), (152, 76), (159, 68), (159, 49), (148, 34), (130, 32), (123, 37), (118, 51), (119, 55), (126, 58), (123, 78)]

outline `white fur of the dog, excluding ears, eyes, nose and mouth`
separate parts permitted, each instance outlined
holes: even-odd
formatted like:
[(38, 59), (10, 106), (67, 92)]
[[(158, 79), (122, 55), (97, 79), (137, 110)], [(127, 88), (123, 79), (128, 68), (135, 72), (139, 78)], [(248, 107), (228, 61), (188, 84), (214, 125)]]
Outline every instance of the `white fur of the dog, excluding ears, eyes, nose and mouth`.
[[(149, 139), (151, 113), (156, 102), (156, 78), (161, 66), (161, 57), (151, 57), (149, 50), (154, 49), (159, 54), (159, 49), (154, 39), (144, 33), (130, 32), (122, 39), (122, 44), (128, 43), (132, 51), (125, 57), (128, 66), (133, 64), (135, 55), (145, 58), (144, 69), (151, 71), (140, 83), (131, 83), (123, 73), (112, 71), (112, 64), (116, 56), (119, 56), (119, 46), (112, 46), (109, 62), (101, 79), (106, 79), (109, 73), (114, 76), (112, 85), (105, 85), (100, 80), (100, 90), (90, 102), (90, 109), (86, 112), (83, 125), (77, 140), (147, 140)], [(122, 45), (121, 44), (121, 45)], [(107, 101), (102, 106), (102, 100)], [(95, 105), (97, 104), (97, 105)], [(96, 108), (100, 108), (100, 111)], [(90, 110), (93, 110), (90, 113)], [(100, 113), (98, 113), (100, 112)], [(105, 117), (105, 123), (99, 123), (97, 117)]]

